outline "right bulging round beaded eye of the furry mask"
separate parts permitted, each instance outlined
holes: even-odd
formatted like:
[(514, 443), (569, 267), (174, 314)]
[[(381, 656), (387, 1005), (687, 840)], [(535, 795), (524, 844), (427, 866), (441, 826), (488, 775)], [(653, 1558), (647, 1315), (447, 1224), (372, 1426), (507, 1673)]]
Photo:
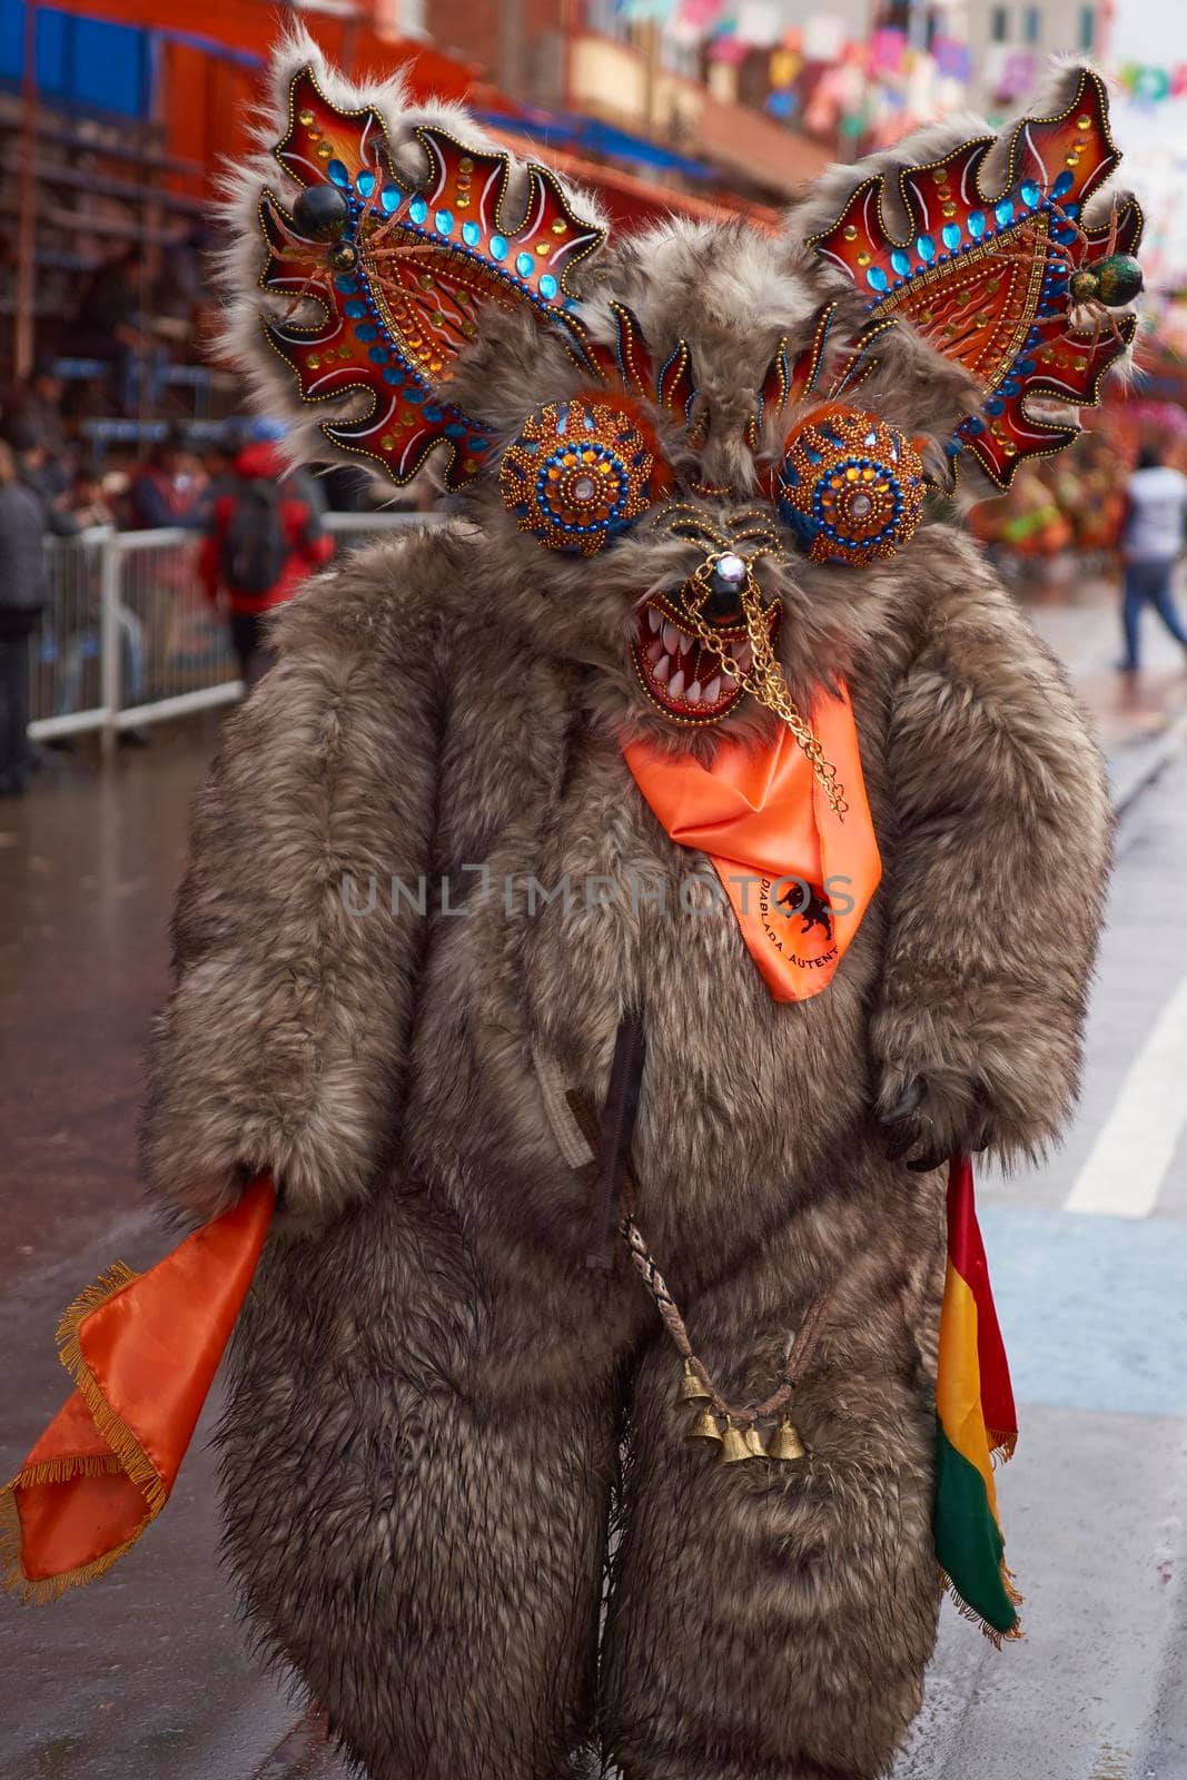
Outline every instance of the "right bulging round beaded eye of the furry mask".
[(924, 461), (876, 415), (822, 408), (788, 433), (776, 498), (812, 562), (872, 562), (915, 534)]

